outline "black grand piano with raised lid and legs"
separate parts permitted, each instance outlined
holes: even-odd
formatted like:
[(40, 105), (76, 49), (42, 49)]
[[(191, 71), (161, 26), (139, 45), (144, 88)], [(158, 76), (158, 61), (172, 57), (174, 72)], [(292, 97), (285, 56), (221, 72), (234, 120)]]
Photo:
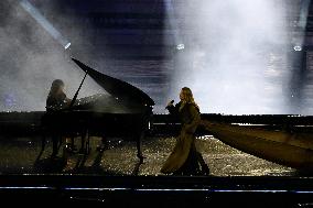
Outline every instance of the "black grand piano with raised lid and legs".
[[(45, 112), (41, 121), (42, 151), (46, 138), (53, 138), (53, 152), (62, 138), (80, 138), (80, 151), (88, 153), (90, 136), (123, 136), (137, 142), (137, 156), (143, 161), (141, 139), (150, 127), (154, 101), (137, 87), (104, 75), (78, 59), (72, 58), (85, 72), (69, 108)], [(107, 94), (77, 99), (86, 76), (90, 76)], [(40, 154), (41, 155), (41, 154)]]

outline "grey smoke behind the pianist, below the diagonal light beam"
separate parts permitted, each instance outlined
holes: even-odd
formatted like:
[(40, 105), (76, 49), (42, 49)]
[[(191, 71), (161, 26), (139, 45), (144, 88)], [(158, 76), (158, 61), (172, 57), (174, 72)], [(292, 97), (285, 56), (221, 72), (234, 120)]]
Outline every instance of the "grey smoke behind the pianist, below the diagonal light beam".
[[(67, 96), (73, 97), (84, 73), (69, 59), (71, 52), (25, 12), (19, 1), (2, 0), (0, 14), (0, 110), (44, 110), (51, 83), (56, 78), (65, 81)], [(74, 41), (86, 40), (76, 35)], [(87, 78), (79, 97), (99, 90)]]

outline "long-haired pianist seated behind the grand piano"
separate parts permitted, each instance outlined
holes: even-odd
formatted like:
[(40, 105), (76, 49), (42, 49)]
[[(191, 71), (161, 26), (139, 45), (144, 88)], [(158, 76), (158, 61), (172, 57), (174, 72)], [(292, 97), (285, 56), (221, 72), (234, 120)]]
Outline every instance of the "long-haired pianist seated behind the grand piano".
[(46, 98), (46, 111), (57, 111), (66, 109), (71, 105), (71, 99), (64, 94), (64, 83), (61, 79), (55, 79)]

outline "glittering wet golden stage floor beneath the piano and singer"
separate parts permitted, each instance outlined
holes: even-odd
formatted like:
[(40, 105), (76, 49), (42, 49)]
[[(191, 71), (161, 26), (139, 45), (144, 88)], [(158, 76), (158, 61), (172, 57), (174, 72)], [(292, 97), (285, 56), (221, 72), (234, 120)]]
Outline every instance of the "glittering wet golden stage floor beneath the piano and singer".
[[(79, 146), (79, 140), (76, 140)], [(162, 175), (160, 168), (175, 143), (175, 138), (145, 138), (142, 141), (143, 164), (139, 164), (136, 143), (109, 139), (109, 147), (96, 150), (99, 138), (93, 138), (89, 155), (58, 153), (50, 160), (52, 143), (36, 160), (41, 150), (40, 138), (1, 138), (1, 174), (100, 174), (100, 175)], [(298, 176), (293, 168), (281, 166), (237, 151), (212, 136), (197, 138), (197, 146), (207, 162), (213, 176)]]

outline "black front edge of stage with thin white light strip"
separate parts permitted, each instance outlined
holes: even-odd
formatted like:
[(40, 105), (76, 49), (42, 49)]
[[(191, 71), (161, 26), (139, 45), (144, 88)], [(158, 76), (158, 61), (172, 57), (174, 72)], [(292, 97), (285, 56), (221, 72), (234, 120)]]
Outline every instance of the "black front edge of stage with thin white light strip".
[(312, 206), (312, 179), (294, 177), (3, 175), (0, 193), (33, 206)]

